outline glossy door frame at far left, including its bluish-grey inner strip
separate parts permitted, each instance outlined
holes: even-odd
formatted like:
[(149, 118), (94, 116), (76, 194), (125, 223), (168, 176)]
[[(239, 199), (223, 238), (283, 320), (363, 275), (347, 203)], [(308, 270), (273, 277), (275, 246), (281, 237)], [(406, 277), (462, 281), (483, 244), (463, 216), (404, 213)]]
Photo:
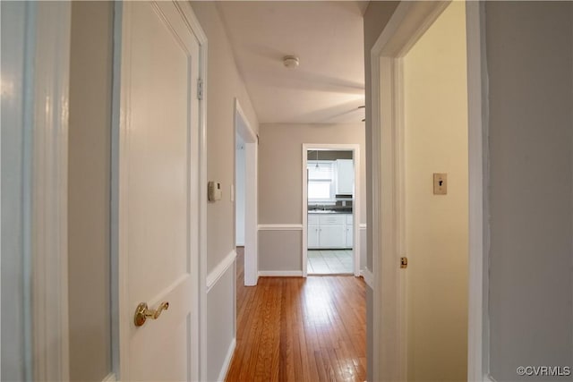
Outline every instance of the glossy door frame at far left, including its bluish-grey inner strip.
[(19, 188), (6, 192), (3, 185), (2, 190), (6, 204), (13, 203), (10, 208), (2, 206), (2, 232), (4, 236), (4, 229), (8, 230), (14, 239), (2, 238), (7, 247), (3, 267), (8, 266), (3, 274), (10, 276), (10, 285), (18, 285), (10, 300), (3, 302), (20, 316), (2, 323), (17, 333), (18, 342), (2, 349), (3, 358), (14, 361), (9, 362), (9, 372), (22, 379), (69, 380), (71, 4), (38, 2), (6, 8), (3, 4), (3, 12), (21, 23), (21, 29), (8, 35), (6, 47), (13, 48), (12, 55), (2, 60), (2, 121), (8, 122), (2, 126), (2, 139), (20, 154), (4, 157), (2, 164), (3, 184), (15, 183)]

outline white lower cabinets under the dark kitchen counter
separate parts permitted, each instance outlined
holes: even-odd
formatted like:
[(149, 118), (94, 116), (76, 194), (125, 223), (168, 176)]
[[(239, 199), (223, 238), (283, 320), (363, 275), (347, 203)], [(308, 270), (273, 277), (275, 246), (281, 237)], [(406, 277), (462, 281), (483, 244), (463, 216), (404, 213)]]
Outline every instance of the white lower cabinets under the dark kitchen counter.
[(307, 233), (310, 250), (352, 248), (352, 215), (309, 214)]

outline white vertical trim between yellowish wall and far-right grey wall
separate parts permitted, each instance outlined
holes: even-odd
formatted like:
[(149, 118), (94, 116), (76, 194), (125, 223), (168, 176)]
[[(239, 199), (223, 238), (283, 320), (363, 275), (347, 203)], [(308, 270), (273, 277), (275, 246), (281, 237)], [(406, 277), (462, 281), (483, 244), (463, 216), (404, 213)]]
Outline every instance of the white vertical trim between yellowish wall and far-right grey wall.
[[(467, 379), (491, 381), (489, 344), (489, 147), (485, 4), (466, 2), (469, 159)], [(484, 219), (485, 217), (485, 219)]]

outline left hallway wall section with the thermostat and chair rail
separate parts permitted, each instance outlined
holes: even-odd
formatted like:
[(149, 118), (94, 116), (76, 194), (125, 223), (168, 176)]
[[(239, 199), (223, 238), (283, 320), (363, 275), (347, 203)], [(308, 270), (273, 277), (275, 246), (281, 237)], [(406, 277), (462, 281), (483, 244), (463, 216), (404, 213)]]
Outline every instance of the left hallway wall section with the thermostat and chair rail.
[[(235, 250), (235, 202), (230, 195), (235, 182), (235, 98), (255, 132), (259, 131), (259, 123), (237, 71), (216, 2), (192, 2), (192, 8), (208, 39), (207, 177), (220, 182), (223, 190), (222, 199), (207, 206), (209, 274)], [(235, 279), (234, 267), (227, 267), (207, 295), (207, 327), (203, 331), (208, 334), (206, 371), (210, 378), (217, 378), (224, 368), (227, 349), (235, 338), (235, 283), (225, 281), (228, 277)]]

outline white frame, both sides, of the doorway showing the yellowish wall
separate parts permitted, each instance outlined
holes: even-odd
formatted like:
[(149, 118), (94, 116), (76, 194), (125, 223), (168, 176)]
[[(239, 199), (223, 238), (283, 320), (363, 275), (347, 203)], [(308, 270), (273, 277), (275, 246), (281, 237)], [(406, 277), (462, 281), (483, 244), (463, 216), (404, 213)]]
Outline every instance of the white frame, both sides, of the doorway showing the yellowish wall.
[[(440, 13), (444, 2), (401, 2), (372, 47), (372, 260), (373, 379), (406, 380), (406, 277), (404, 256), (403, 77), (406, 55)], [(489, 380), (487, 327), (487, 73), (483, 65), (484, 5), (466, 3), (469, 288), (467, 378)], [(384, 310), (382, 310), (382, 306)]]

